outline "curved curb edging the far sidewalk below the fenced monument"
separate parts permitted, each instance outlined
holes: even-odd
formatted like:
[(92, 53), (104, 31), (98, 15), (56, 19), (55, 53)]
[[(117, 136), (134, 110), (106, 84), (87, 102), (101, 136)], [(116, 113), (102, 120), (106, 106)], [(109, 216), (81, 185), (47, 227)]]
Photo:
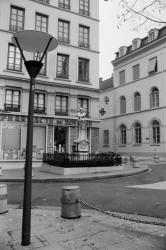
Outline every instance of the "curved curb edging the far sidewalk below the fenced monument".
[[(135, 172), (126, 172), (126, 173), (119, 173), (119, 174), (108, 174), (108, 175), (100, 175), (100, 176), (84, 176), (84, 177), (60, 177), (60, 178), (44, 178), (44, 179), (32, 179), (32, 183), (49, 183), (49, 182), (74, 182), (74, 181), (90, 181), (90, 180), (101, 180), (101, 179), (111, 179), (111, 178), (119, 178), (119, 177), (127, 177), (138, 175), (142, 173), (146, 173), (149, 171), (149, 168), (146, 168), (135, 171)], [(0, 178), (1, 182), (24, 182), (24, 178), (16, 178), (16, 179), (9, 179), (9, 178)]]

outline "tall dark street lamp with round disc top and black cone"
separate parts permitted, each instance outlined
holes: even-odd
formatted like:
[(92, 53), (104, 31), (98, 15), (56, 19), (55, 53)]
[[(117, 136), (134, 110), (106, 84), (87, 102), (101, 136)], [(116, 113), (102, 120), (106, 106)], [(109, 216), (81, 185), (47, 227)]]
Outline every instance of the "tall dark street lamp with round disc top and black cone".
[[(30, 76), (21, 242), (21, 245), (28, 246), (30, 245), (31, 235), (32, 148), (35, 78), (43, 66), (42, 60), (46, 52), (54, 50), (58, 43), (57, 40), (48, 33), (35, 30), (25, 30), (14, 34), (12, 37), (12, 42), (18, 46), (25, 67)], [(42, 54), (42, 56), (41, 58), (39, 56), (38, 61), (37, 59), (26, 61), (23, 54), (24, 50), (31, 53), (38, 53), (38, 55)]]

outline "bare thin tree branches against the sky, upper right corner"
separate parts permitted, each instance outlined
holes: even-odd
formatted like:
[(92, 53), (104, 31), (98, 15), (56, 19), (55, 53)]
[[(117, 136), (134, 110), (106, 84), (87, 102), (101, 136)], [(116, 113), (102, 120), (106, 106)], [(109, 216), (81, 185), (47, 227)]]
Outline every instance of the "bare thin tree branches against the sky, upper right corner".
[[(105, 0), (106, 1), (106, 0)], [(117, 1), (117, 0), (111, 0)], [(165, 0), (118, 0), (118, 28), (131, 21), (135, 30), (141, 26), (158, 26), (166, 24)]]

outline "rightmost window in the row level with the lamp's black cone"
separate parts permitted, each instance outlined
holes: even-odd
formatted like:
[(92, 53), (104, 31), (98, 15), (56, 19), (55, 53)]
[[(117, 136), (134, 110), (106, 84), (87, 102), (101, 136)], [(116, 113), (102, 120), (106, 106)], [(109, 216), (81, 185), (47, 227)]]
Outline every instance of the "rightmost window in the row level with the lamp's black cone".
[(89, 59), (79, 58), (78, 81), (89, 82)]

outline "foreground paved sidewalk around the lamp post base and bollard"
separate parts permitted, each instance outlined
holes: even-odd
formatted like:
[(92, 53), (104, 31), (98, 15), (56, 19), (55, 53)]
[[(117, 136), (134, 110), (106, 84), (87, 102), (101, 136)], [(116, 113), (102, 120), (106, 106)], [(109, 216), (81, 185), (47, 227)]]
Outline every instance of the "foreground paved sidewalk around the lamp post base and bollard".
[(94, 210), (82, 209), (81, 215), (77, 219), (64, 219), (60, 208), (32, 209), (31, 245), (21, 246), (22, 209), (12, 206), (7, 213), (0, 215), (0, 250), (166, 249), (165, 227), (124, 221)]

